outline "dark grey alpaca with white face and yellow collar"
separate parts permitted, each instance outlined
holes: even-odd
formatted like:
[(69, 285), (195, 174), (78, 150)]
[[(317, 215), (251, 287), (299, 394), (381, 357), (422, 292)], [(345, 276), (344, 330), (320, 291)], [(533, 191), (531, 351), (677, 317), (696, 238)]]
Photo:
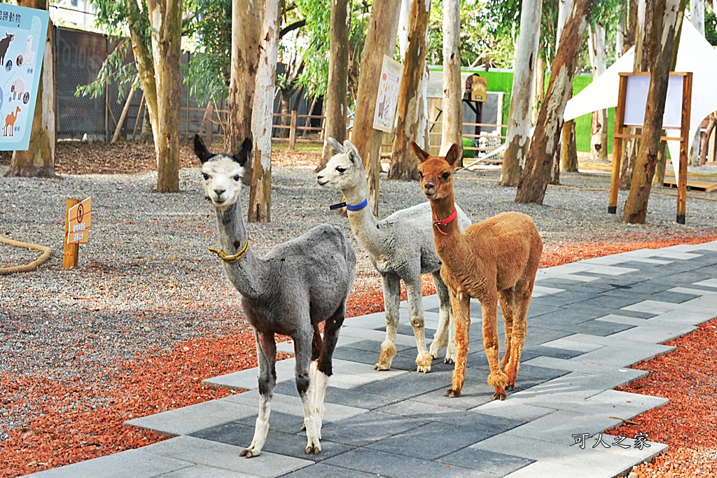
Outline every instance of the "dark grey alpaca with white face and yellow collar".
[[(199, 135), (194, 153), (201, 161), (204, 193), (212, 200), (219, 224), (218, 252), (229, 282), (242, 295), (242, 307), (254, 328), (259, 362), (259, 416), (254, 439), (242, 457), (256, 457), (269, 431), (271, 399), (276, 384), (274, 334), (289, 335), (296, 355), (296, 389), (306, 428), (306, 454), (321, 451), (321, 423), (331, 356), (346, 315), (353, 287), (356, 256), (341, 229), (315, 226), (260, 257), (250, 247), (239, 193), (252, 140), (234, 156), (212, 154)], [(324, 325), (323, 339), (318, 330)]]

